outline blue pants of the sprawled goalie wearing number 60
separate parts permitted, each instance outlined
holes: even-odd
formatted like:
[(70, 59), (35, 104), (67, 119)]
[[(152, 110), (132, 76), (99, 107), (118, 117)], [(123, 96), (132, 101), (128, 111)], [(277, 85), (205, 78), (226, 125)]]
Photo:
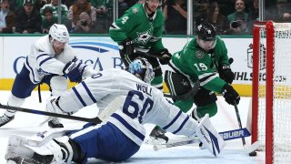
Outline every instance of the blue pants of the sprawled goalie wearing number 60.
[(120, 162), (129, 159), (140, 149), (140, 146), (110, 122), (100, 128), (91, 128), (92, 130), (87, 130), (86, 133), (79, 131), (70, 135), (70, 138), (73, 138), (86, 154), (85, 159), (96, 158)]

